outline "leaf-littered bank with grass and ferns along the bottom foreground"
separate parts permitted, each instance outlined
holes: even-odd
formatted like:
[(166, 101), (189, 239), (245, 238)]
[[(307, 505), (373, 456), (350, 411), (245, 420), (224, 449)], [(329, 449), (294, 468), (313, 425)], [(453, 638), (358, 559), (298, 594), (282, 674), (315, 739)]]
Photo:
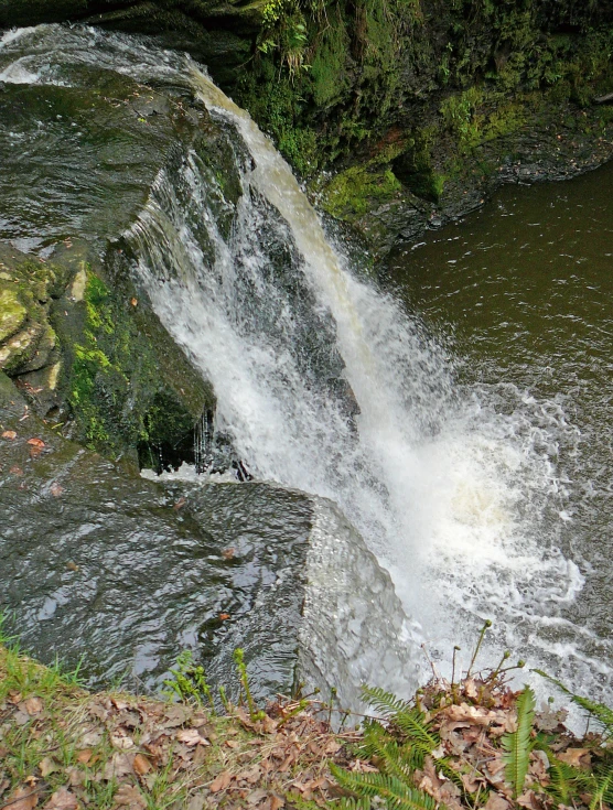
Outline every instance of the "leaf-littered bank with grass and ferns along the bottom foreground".
[(76, 674), (0, 647), (2, 810), (279, 810), (359, 797), (365, 808), (605, 810), (610, 710), (583, 701), (609, 725), (573, 736), (563, 710), (535, 711), (529, 689), (505, 684), (507, 658), (455, 683), (435, 677), (409, 703), (370, 690), (381, 720), (334, 732), (332, 702), (279, 698), (261, 710), (246, 680), (239, 705), (219, 715), (204, 706), (197, 670), (175, 671), (179, 702), (92, 694)]

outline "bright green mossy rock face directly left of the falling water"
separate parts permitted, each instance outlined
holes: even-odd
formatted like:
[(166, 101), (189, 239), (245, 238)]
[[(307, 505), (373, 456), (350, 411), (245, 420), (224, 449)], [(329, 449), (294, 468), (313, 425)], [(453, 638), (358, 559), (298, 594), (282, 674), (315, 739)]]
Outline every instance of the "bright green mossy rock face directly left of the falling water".
[[(194, 387), (195, 372), (190, 375), (180, 349), (166, 337), (168, 350), (160, 361), (154, 337), (161, 327), (153, 316), (139, 312), (129, 291), (111, 291), (89, 266), (83, 264), (82, 272), (83, 300), (66, 302), (69, 316), (60, 311), (54, 320), (65, 358), (62, 385), (76, 438), (108, 455), (136, 454), (138, 447), (141, 463), (155, 466), (160, 447), (170, 454), (183, 445), (191, 447), (205, 396), (196, 390), (194, 411), (189, 410), (183, 395)], [(169, 375), (176, 376), (176, 391)]]

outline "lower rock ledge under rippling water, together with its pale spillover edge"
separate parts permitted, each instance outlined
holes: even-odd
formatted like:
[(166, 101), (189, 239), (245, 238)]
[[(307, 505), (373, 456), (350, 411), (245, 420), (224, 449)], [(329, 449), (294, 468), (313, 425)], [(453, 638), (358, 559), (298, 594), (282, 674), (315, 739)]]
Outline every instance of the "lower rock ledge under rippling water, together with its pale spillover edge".
[(189, 649), (236, 695), (241, 647), (256, 698), (303, 681), (345, 705), (406, 674), (389, 575), (332, 505), (146, 480), (29, 415), (1, 372), (0, 424), (0, 611), (36, 658), (157, 691)]

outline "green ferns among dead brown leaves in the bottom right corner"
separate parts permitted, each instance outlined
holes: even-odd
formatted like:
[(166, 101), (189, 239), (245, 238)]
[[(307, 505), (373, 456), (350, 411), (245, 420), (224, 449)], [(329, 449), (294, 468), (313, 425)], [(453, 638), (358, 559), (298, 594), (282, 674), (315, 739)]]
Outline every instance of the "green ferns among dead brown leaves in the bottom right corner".
[(503, 669), (508, 652), (496, 669), (471, 676), (487, 627), (459, 682), (453, 676), (451, 683), (434, 677), (413, 701), (364, 690), (377, 716), (365, 721), (355, 752), (376, 768), (331, 766), (349, 793), (337, 802), (341, 808), (611, 806), (613, 712), (555, 681), (602, 724), (599, 733), (577, 738), (563, 725), (563, 711), (537, 712), (530, 687), (514, 692), (506, 684), (505, 674), (515, 669)]

